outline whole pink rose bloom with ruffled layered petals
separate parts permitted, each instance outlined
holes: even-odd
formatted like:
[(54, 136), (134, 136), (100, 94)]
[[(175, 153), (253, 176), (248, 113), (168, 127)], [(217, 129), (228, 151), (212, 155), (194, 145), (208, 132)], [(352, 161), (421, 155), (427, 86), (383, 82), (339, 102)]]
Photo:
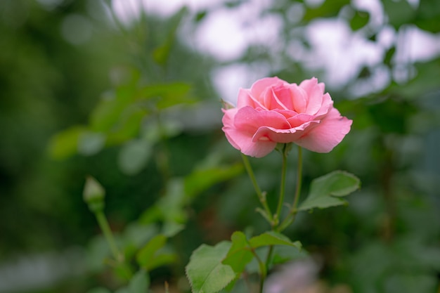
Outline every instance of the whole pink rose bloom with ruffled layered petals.
[(352, 120), (333, 108), (318, 79), (289, 84), (266, 77), (240, 89), (237, 107), (223, 109), (223, 131), (245, 155), (264, 157), (277, 143), (296, 143), (313, 152), (330, 152), (349, 133)]

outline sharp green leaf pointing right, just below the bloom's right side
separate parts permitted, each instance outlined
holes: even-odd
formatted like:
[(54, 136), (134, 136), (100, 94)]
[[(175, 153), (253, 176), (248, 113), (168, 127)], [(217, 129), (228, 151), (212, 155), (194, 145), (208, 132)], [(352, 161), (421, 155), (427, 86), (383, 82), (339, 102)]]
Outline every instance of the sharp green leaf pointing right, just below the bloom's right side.
[(345, 171), (333, 171), (311, 181), (309, 196), (298, 210), (332, 207), (347, 204), (339, 197), (349, 195), (361, 185), (359, 178)]

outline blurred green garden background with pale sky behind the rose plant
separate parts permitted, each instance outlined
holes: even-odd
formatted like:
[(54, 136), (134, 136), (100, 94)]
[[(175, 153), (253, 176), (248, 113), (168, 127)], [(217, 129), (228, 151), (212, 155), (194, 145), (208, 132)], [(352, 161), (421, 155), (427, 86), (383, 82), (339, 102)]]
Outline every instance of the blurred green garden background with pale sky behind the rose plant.
[[(126, 253), (171, 235), (153, 292), (189, 292), (201, 243), (270, 228), (220, 102), (267, 76), (317, 77), (354, 121), (329, 154), (304, 152), (304, 186), (335, 169), (362, 181), (348, 207), (286, 230), (318, 259), (313, 292), (439, 292), (437, 0), (1, 0), (0, 292), (124, 283), (103, 263), (87, 175)], [(251, 163), (276, 194), (278, 153)]]

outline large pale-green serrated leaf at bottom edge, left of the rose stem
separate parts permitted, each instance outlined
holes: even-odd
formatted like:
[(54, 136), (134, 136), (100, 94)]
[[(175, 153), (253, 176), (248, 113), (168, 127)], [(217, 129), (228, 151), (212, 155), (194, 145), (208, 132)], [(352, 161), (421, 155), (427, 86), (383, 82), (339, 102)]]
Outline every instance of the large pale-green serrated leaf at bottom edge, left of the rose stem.
[(186, 266), (186, 275), (193, 293), (216, 293), (235, 279), (231, 266), (221, 263), (231, 242), (220, 242), (216, 246), (201, 245), (195, 249)]

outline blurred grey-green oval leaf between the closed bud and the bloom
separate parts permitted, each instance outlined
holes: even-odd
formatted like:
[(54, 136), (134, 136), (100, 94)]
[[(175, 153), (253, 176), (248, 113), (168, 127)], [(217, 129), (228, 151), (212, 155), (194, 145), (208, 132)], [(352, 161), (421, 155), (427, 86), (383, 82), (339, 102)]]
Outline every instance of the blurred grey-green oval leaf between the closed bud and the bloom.
[(119, 168), (127, 175), (138, 174), (148, 162), (153, 146), (144, 140), (132, 140), (119, 152)]

